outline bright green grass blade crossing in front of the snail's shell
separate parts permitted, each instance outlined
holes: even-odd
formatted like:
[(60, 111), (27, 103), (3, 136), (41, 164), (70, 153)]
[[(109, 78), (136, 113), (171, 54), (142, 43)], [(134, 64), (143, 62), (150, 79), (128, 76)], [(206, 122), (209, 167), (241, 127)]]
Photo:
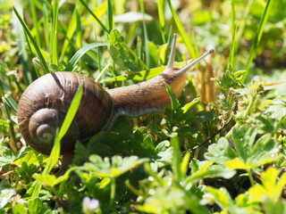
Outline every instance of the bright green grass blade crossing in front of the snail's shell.
[[(54, 147), (46, 163), (46, 168), (44, 169), (42, 176), (46, 176), (50, 173), (50, 171), (55, 167), (55, 163), (58, 161), (60, 157), (61, 140), (63, 139), (63, 136), (66, 134), (67, 130), (70, 128), (71, 122), (74, 119), (76, 112), (78, 111), (80, 107), (80, 101), (81, 101), (82, 94), (83, 94), (83, 86), (80, 85), (79, 89), (77, 90), (76, 94), (74, 95), (71, 101), (69, 110), (67, 111), (67, 114), (63, 120), (63, 125), (60, 131), (58, 132), (58, 134), (55, 136)], [(35, 198), (38, 197), (38, 194), (41, 188), (42, 188), (42, 183), (36, 180), (27, 192), (27, 193), (31, 193), (30, 200), (35, 200)]]

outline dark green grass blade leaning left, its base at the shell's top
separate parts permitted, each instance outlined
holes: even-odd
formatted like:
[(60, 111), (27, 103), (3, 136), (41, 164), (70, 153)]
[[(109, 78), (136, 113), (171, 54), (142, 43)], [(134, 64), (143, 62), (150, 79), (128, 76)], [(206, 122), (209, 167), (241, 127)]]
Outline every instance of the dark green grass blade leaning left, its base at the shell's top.
[(39, 60), (43, 64), (43, 71), (44, 71), (44, 73), (45, 74), (49, 73), (50, 71), (49, 71), (49, 69), (48, 69), (48, 67), (46, 65), (45, 58), (44, 58), (43, 54), (41, 53), (41, 50), (39, 49), (39, 47), (38, 47), (34, 37), (32, 37), (32, 35), (31, 35), (30, 31), (29, 31), (28, 26), (26, 25), (25, 21), (23, 21), (23, 19), (21, 18), (20, 13), (17, 11), (17, 9), (15, 7), (13, 7), (13, 12), (15, 12), (18, 20), (21, 22), (22, 28), (24, 29), (26, 35), (29, 37), (29, 40), (30, 40), (31, 44), (34, 46), (34, 48), (35, 48), (35, 50), (36, 50), (36, 52), (38, 54), (38, 58), (39, 58)]

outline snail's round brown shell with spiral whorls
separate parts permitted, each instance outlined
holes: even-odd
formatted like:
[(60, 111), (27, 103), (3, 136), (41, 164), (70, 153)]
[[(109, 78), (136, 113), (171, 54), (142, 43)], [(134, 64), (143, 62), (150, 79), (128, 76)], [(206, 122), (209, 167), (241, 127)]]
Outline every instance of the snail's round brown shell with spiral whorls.
[(110, 95), (94, 80), (73, 72), (55, 72), (36, 79), (21, 95), (17, 118), (26, 143), (49, 154), (72, 98), (83, 83), (79, 110), (61, 142), (61, 153), (71, 152), (77, 140), (87, 141), (113, 117)]

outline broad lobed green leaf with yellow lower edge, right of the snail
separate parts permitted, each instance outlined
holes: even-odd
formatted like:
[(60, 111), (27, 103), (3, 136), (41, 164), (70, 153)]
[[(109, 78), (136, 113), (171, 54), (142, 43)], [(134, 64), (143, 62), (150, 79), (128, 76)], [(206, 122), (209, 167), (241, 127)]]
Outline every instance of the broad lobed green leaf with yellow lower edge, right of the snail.
[(257, 128), (241, 126), (233, 128), (232, 141), (222, 137), (217, 144), (208, 147), (206, 159), (225, 164), (231, 169), (251, 169), (280, 159), (278, 148), (270, 135), (261, 136), (257, 141)]

